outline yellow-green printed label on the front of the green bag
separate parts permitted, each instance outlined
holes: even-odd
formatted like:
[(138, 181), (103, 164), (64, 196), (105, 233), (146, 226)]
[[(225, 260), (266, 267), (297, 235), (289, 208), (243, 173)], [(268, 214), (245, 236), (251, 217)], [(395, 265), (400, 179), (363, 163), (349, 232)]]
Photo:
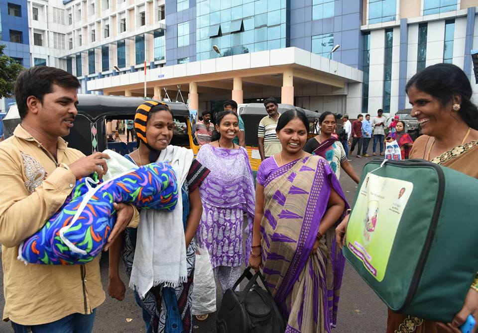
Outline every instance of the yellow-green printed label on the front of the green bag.
[(378, 281), (387, 268), (413, 183), (368, 173), (347, 227), (347, 246)]

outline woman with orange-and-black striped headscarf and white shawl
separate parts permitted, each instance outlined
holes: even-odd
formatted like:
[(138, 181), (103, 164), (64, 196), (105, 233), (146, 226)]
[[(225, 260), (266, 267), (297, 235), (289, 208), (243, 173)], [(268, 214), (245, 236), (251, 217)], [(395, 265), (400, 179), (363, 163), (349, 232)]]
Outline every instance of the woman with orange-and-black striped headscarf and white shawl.
[(108, 293), (124, 298), (118, 273), (121, 253), (147, 333), (192, 332), (193, 238), (202, 214), (198, 188), (209, 170), (194, 160), (191, 150), (169, 145), (174, 126), (165, 103), (146, 101), (138, 106), (134, 127), (139, 146), (126, 157), (138, 166), (156, 161), (171, 164), (182, 185), (180, 200), (167, 214), (141, 212), (137, 230), (127, 228), (124, 240), (118, 238), (110, 248)]

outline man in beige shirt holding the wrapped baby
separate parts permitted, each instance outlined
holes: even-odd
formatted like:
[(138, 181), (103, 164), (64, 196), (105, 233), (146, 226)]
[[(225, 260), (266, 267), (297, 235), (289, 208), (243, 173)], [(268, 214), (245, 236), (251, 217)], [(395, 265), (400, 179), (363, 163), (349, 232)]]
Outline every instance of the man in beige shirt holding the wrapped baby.
[[(11, 320), (14, 332), (91, 332), (95, 308), (105, 300), (99, 258), (84, 265), (25, 265), (17, 259), (20, 243), (60, 208), (76, 179), (107, 172), (106, 154), (85, 157), (61, 138), (73, 127), (79, 86), (74, 76), (46, 66), (23, 71), (15, 83), (21, 125), (0, 143), (3, 320)], [(108, 244), (137, 219), (132, 206), (116, 209)]]

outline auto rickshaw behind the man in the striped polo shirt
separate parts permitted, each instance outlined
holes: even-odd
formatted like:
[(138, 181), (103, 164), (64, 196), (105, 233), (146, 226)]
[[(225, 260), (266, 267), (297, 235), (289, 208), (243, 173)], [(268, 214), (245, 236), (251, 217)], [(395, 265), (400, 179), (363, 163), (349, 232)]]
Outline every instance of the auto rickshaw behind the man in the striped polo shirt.
[[(315, 126), (320, 114), (291, 104), (278, 104), (277, 110), (279, 113), (284, 113), (285, 111), (291, 109), (305, 113), (307, 119), (309, 120), (309, 134), (307, 137), (309, 139), (314, 137), (316, 135), (314, 134)], [(242, 109), (240, 113), (240, 117), (244, 121), (245, 127), (245, 146), (247, 149), (247, 154), (249, 155), (250, 166), (252, 167), (252, 171), (254, 171), (254, 173), (257, 172), (261, 162), (258, 148), (259, 140), (257, 138), (257, 130), (259, 129), (260, 120), (266, 115), (267, 111), (262, 103), (249, 103)]]

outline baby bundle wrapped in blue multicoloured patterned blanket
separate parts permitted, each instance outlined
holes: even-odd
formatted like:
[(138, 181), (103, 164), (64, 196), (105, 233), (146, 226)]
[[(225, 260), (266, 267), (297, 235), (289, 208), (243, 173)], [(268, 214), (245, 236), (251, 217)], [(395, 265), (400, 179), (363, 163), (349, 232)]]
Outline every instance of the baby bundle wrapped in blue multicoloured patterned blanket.
[[(105, 153), (118, 159), (116, 153)], [(176, 175), (166, 163), (136, 167), (103, 183), (92, 177), (78, 179), (60, 209), (20, 244), (18, 259), (25, 264), (90, 262), (105, 247), (116, 222), (113, 203), (172, 211), (177, 199)]]

